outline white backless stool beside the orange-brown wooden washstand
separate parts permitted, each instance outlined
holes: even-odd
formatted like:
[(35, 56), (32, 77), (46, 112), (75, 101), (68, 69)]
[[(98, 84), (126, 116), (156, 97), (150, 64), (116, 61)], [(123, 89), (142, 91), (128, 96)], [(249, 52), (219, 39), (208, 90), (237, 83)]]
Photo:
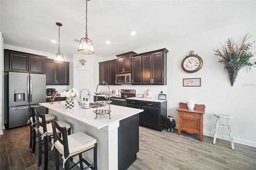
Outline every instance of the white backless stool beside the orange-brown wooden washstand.
[[(215, 125), (215, 130), (214, 130), (213, 144), (216, 143), (217, 133), (221, 133), (221, 134), (229, 136), (229, 138), (226, 138), (226, 137), (223, 137), (223, 136), (218, 136), (218, 137), (224, 138), (224, 139), (228, 139), (230, 141), (230, 143), (231, 143), (232, 149), (235, 150), (234, 142), (233, 142), (233, 134), (232, 134), (232, 129), (231, 129), (231, 123), (230, 123), (230, 119), (233, 118), (233, 116), (222, 115), (222, 114), (214, 114), (214, 116), (216, 116), (217, 119), (216, 119), (216, 125)], [(226, 118), (227, 121), (228, 121), (228, 125), (219, 126), (220, 117)], [(229, 134), (218, 132), (218, 127), (228, 129)]]

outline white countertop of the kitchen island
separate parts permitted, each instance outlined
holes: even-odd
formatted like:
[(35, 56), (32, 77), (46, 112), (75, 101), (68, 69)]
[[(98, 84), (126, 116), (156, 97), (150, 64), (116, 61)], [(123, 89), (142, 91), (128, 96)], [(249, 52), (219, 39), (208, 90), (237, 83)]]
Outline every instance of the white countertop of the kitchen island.
[[(78, 121), (81, 121), (82, 123), (85, 123), (86, 125), (95, 127), (97, 129), (106, 127), (112, 123), (115, 123), (116, 121), (126, 119), (127, 117), (136, 115), (143, 111), (142, 109), (134, 109), (130, 107), (110, 105), (111, 119), (109, 119), (108, 114), (98, 115), (97, 119), (95, 119), (96, 114), (93, 113), (93, 111), (96, 110), (96, 108), (83, 109), (83, 108), (80, 108), (79, 105), (74, 105), (72, 109), (66, 109), (65, 102), (62, 102), (62, 103), (52, 102), (52, 104), (39, 103), (39, 105), (42, 105), (48, 109), (53, 109), (63, 115), (66, 115), (67, 117), (72, 117), (74, 119), (77, 119)], [(98, 109), (109, 109), (109, 105), (98, 107)]]

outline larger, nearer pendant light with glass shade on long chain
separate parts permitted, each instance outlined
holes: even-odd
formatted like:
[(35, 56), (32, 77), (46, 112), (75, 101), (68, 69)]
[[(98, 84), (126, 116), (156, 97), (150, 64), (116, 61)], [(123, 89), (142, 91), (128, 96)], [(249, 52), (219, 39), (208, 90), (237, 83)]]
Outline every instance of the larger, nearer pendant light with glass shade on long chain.
[(84, 54), (92, 54), (92, 53), (94, 53), (94, 49), (92, 46), (92, 40), (90, 40), (87, 35), (87, 0), (86, 0), (86, 27), (85, 27), (85, 29), (86, 29), (85, 38), (81, 38), (81, 41), (80, 41), (80, 44), (78, 47), (78, 51), (80, 51), (81, 53), (84, 53)]

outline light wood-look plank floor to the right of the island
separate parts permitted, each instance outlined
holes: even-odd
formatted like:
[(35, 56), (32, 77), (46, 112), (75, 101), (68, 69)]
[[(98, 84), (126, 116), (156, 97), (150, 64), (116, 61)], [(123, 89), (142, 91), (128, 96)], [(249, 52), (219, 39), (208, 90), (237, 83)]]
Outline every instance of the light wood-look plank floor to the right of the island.
[(256, 170), (256, 148), (182, 131), (140, 127), (137, 160), (128, 170)]

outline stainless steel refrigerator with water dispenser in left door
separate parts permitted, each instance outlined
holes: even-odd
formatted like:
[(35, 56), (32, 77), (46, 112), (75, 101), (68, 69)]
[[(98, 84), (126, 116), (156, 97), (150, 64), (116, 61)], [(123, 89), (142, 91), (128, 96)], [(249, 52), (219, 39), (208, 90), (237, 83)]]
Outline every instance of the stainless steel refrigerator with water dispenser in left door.
[(8, 127), (27, 125), (28, 104), (35, 110), (45, 113), (38, 103), (46, 102), (46, 75), (36, 73), (8, 73)]

